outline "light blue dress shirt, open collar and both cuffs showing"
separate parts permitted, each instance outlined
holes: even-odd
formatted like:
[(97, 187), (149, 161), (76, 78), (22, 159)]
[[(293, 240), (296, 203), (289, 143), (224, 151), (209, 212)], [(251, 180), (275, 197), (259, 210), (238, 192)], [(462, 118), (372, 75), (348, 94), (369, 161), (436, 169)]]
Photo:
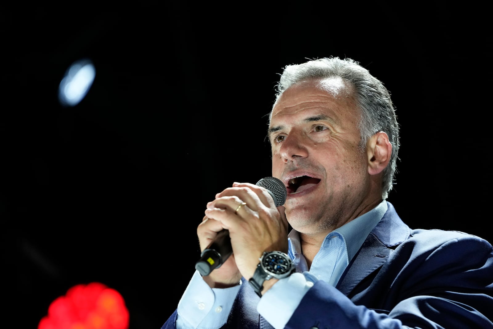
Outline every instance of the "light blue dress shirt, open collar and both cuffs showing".
[[(368, 213), (327, 234), (310, 270), (301, 253), (299, 233), (291, 230), (288, 235), (288, 255), (296, 265), (296, 273), (279, 280), (264, 293), (257, 305), (258, 313), (274, 328), (284, 328), (314, 282), (324, 280), (332, 286), (337, 284), (349, 261), (386, 211), (387, 201), (383, 200)], [(240, 285), (211, 289), (200, 273), (195, 271), (178, 302), (176, 327), (178, 329), (221, 328), (228, 319)]]

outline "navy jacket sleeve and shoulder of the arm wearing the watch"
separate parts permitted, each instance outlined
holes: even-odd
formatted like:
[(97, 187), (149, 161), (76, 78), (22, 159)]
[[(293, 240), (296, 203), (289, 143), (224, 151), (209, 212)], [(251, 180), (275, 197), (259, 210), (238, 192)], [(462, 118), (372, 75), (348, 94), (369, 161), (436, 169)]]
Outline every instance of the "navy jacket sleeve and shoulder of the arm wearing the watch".
[(402, 243), (350, 297), (317, 281), (285, 328), (493, 329), (492, 245), (441, 232)]

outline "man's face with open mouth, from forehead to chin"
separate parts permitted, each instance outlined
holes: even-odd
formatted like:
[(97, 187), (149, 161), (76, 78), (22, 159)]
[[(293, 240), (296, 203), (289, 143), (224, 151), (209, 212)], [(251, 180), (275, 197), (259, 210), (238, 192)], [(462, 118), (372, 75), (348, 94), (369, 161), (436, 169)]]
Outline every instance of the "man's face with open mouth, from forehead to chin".
[(370, 183), (358, 118), (340, 78), (295, 84), (275, 104), (272, 174), (287, 186), (286, 217), (297, 231), (331, 231), (360, 215)]

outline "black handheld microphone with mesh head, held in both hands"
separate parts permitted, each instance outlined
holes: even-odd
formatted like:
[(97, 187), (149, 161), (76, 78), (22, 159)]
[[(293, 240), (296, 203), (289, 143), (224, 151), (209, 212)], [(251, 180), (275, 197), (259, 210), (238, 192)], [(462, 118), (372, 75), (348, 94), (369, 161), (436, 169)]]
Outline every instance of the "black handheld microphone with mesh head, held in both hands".
[[(281, 180), (275, 177), (265, 177), (255, 185), (267, 189), (274, 199), (276, 207), (282, 206), (286, 201), (286, 186), (284, 186), (284, 183), (282, 183)], [(231, 254), (233, 254), (233, 248), (231, 247), (229, 231), (223, 229), (217, 233), (211, 244), (204, 249), (200, 255), (200, 259), (195, 263), (195, 269), (197, 269), (202, 276), (209, 275), (215, 268), (220, 267)]]

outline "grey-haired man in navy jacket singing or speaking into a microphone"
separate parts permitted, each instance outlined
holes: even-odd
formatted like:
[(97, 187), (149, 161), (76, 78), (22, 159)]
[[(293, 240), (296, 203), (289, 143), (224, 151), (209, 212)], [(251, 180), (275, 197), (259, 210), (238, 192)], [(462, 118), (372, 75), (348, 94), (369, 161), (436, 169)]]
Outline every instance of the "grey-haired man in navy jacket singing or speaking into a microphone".
[(227, 229), (233, 255), (194, 274), (163, 329), (493, 328), (492, 245), (410, 229), (386, 201), (399, 132), (378, 79), (351, 59), (287, 66), (269, 140), (284, 206), (251, 183), (207, 204), (201, 250)]

